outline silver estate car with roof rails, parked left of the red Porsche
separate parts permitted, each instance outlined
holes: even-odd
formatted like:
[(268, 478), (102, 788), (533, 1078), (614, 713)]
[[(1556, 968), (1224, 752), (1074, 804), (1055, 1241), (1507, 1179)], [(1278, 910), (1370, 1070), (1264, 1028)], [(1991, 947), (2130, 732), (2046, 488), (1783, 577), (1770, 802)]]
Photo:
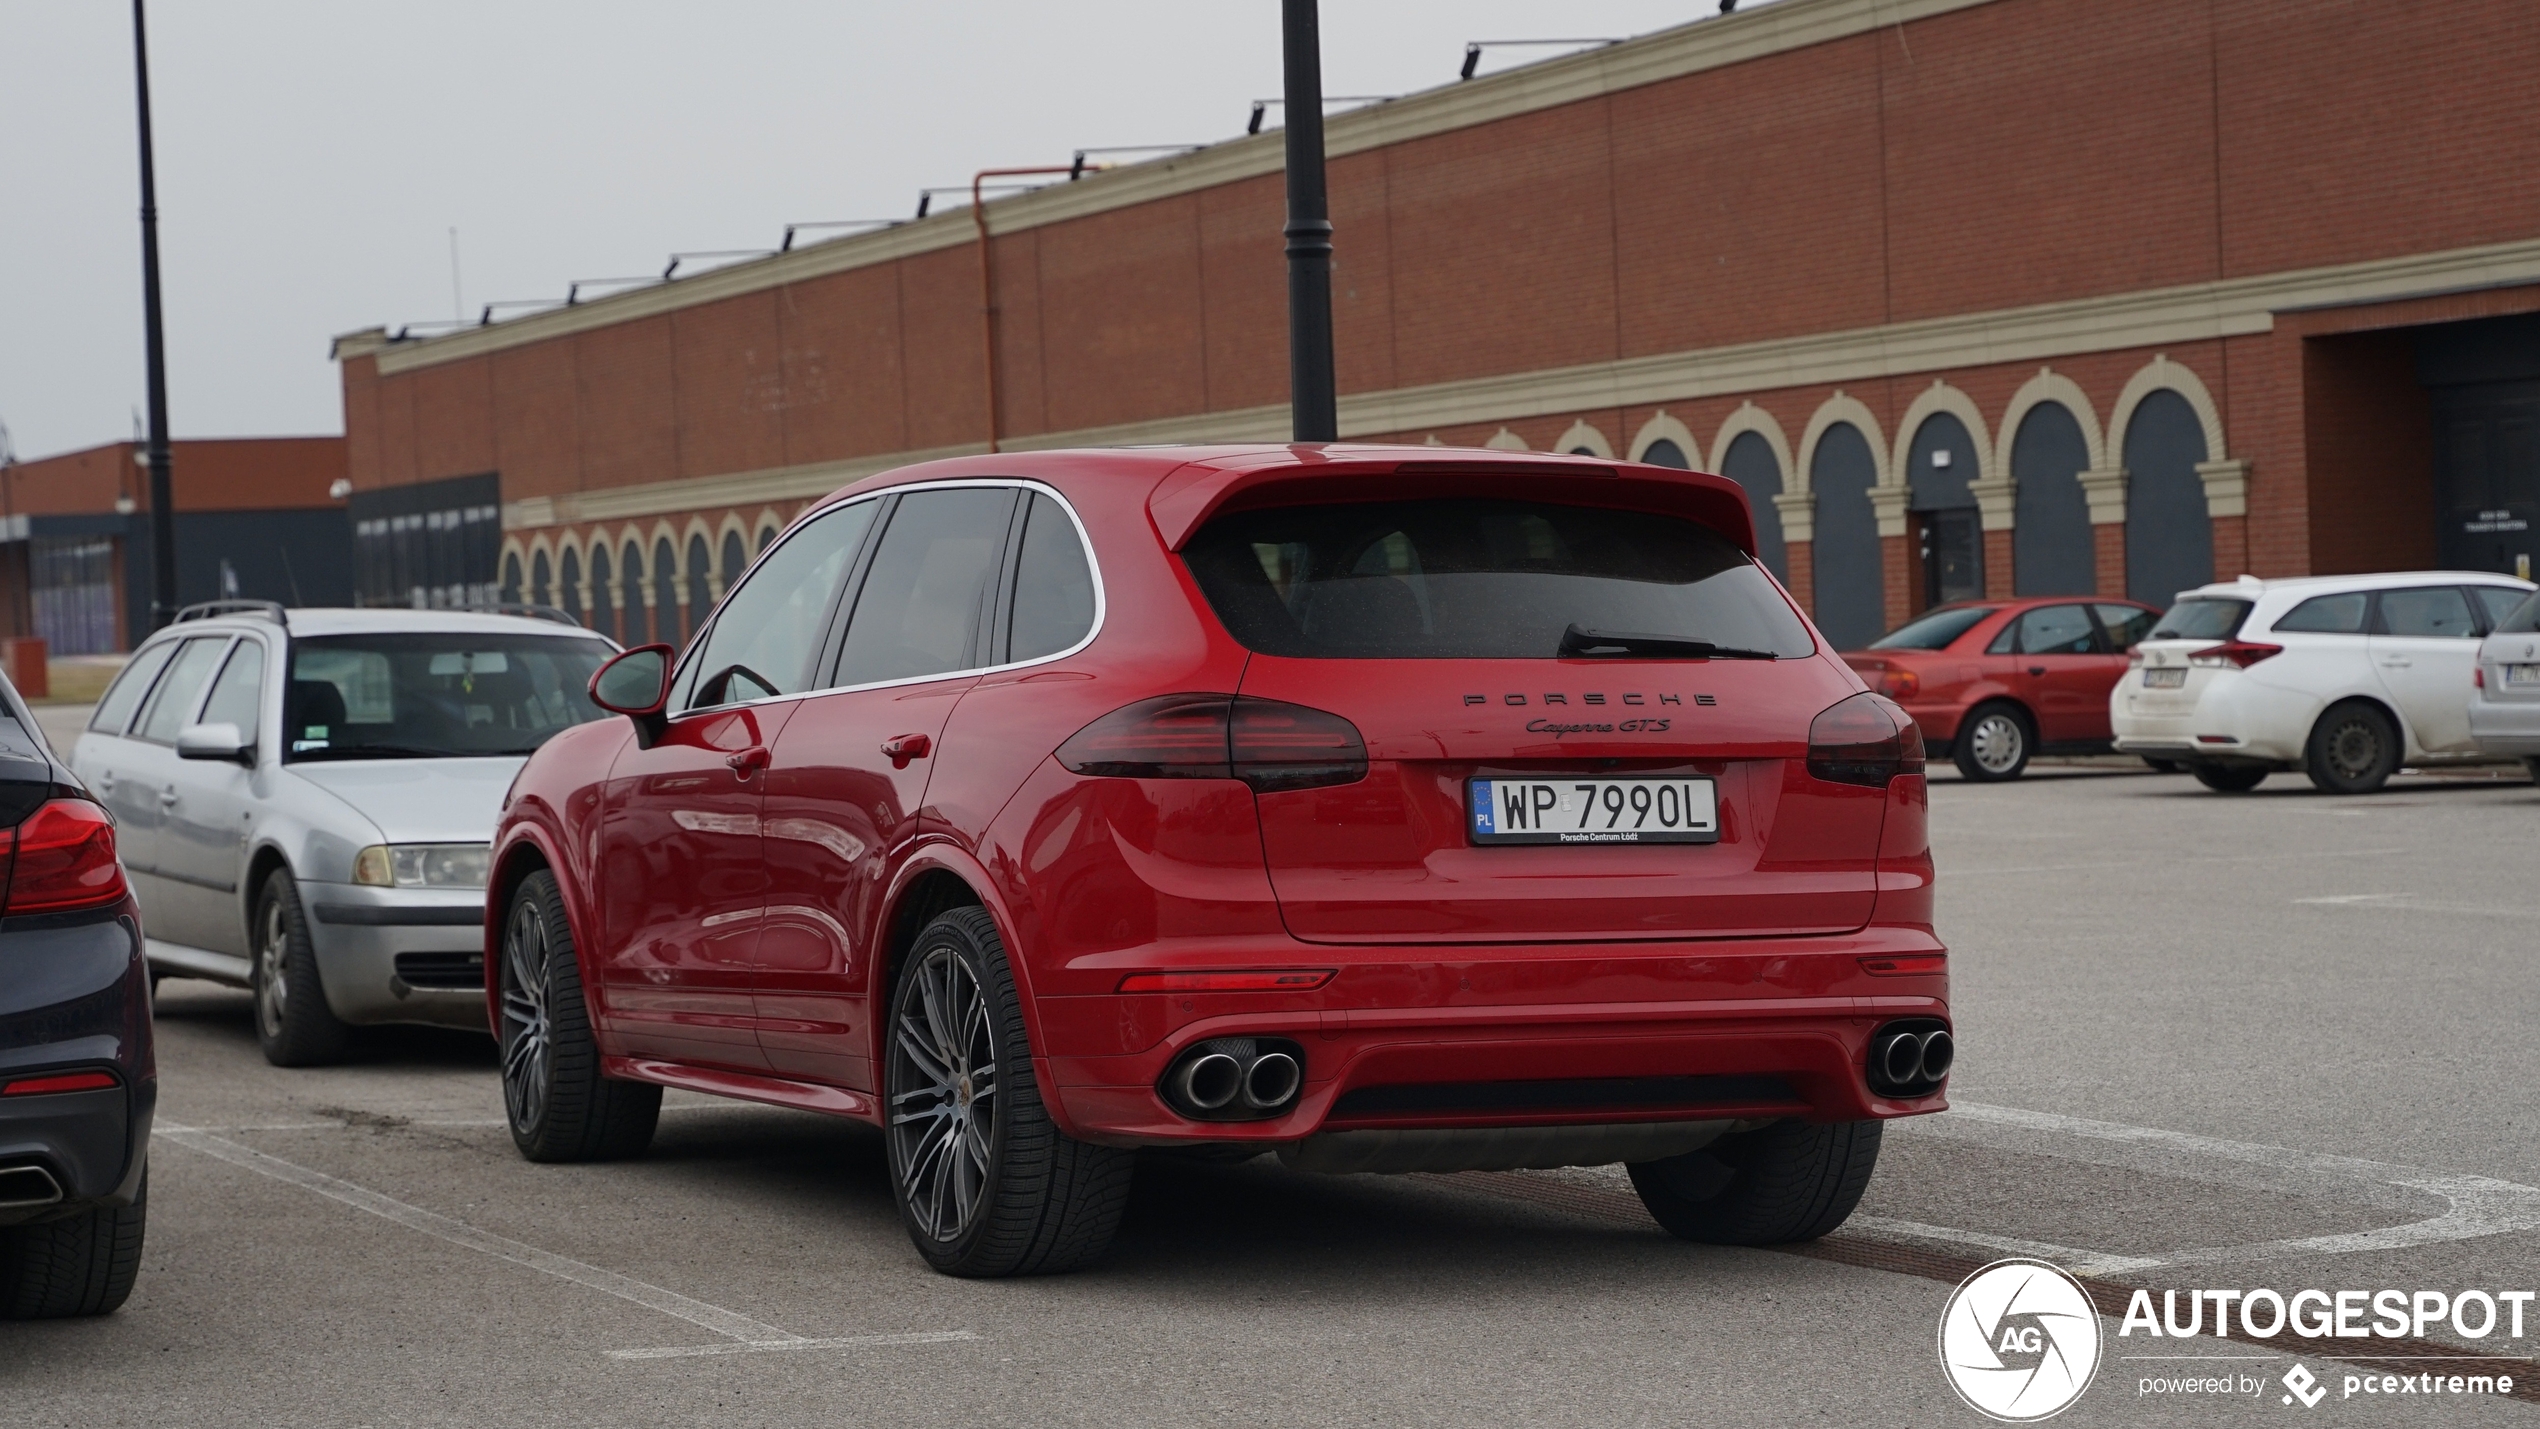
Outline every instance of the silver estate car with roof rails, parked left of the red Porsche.
[(188, 607), (71, 749), (114, 810), (150, 975), (257, 992), (277, 1066), (353, 1023), (485, 1028), (485, 855), (503, 789), (602, 718), (617, 647), (427, 609)]

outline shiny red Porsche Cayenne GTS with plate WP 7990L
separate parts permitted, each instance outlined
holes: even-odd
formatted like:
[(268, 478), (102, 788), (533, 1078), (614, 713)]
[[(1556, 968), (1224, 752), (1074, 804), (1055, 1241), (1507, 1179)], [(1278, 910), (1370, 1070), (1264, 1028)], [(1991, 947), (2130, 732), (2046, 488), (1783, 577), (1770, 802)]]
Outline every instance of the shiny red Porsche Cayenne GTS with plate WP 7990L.
[(942, 1272), (1095, 1256), (1138, 1147), (1626, 1162), (1819, 1236), (1943, 1107), (1923, 746), (1709, 475), (965, 457), (805, 513), (505, 800), (513, 1140), (663, 1086), (881, 1127)]

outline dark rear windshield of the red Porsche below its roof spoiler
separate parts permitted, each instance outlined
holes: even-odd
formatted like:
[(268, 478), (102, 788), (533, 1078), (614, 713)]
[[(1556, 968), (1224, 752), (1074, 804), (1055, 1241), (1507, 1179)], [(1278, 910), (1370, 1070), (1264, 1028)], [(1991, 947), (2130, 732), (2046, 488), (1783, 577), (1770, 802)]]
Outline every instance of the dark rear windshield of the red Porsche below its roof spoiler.
[(1219, 515), (1184, 558), (1227, 632), (1262, 655), (1554, 660), (1572, 627), (1770, 657), (1816, 650), (1745, 551), (1671, 515), (1481, 497), (1288, 505)]

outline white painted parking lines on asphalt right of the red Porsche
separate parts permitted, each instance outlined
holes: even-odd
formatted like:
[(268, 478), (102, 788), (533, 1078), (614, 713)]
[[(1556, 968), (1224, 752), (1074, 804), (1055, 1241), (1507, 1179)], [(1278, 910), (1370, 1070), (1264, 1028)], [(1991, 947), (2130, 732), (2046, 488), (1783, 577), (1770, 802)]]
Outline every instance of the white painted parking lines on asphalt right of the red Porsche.
[[(1920, 1122), (1920, 1124), (1918, 1124)], [(2327, 1183), (2314, 1188), (2327, 1195), (2355, 1190), (2370, 1190), (2375, 1201), (2390, 1201), (2390, 1190), (2436, 1195), (2446, 1203), (2441, 1216), (2428, 1216), (2423, 1221), (2408, 1221), (2400, 1226), (2383, 1226), (2375, 1231), (2350, 1231), (2339, 1236), (2296, 1236), (2281, 1241), (2250, 1241), (2240, 1246), (2197, 1246), (2184, 1251), (2167, 1251), (2159, 1256), (2116, 1256), (2111, 1251), (2083, 1251), (2062, 1249), (2065, 1254), (2090, 1256), (2103, 1267), (2118, 1272), (2151, 1269), (2169, 1264), (2220, 1264), (2220, 1261), (2250, 1261), (2271, 1256), (2337, 1256), (2357, 1251), (2395, 1251), (2408, 1246), (2428, 1246), (2441, 1241), (2469, 1241), (2479, 1236), (2507, 1236), (2515, 1231), (2540, 1228), (2540, 1188), (2517, 1185), (2512, 1180), (2497, 1180), (2489, 1175), (2443, 1175), (2413, 1165), (2393, 1165), (2380, 1160), (2362, 1160), (2347, 1155), (2304, 1152), (2291, 1147), (2271, 1147), (2261, 1142), (2233, 1142), (2222, 1137), (2200, 1137), (2192, 1132), (2167, 1132), (2159, 1127), (2129, 1127), (2123, 1122), (2093, 1122), (2088, 1117), (2062, 1117), (2055, 1112), (2024, 1112), (2019, 1107), (1986, 1107), (1979, 1102), (1958, 1102), (1941, 1117), (1930, 1119), (1905, 1119), (1890, 1122), (1890, 1127), (1902, 1127), (1923, 1135), (1938, 1135), (1946, 1140), (1974, 1140), (1974, 1142), (1999, 1142), (1989, 1137), (1989, 1129), (2007, 1132), (2047, 1132), (2052, 1137), (2085, 1137), (2113, 1147), (2116, 1155), (2101, 1152), (2083, 1160), (2129, 1165), (2131, 1170), (2151, 1175), (2192, 1175), (2200, 1180), (2225, 1180), (2243, 1183), (2238, 1175), (2200, 1175), (2195, 1160), (2217, 1160), (2233, 1168), (2258, 1168), (2276, 1173), (2278, 1178)], [(2007, 1142), (2002, 1142), (2007, 1145)], [(2050, 1145), (2022, 1142), (2017, 1150), (2057, 1155)], [(2126, 1150), (2139, 1150), (2144, 1155), (2123, 1155)], [(1872, 1218), (1854, 1216), (1857, 1226), (1877, 1231)], [(1996, 1236), (1981, 1236), (1976, 1231), (1956, 1231), (1948, 1226), (1918, 1226), (1910, 1221), (1887, 1223), (1892, 1231), (1915, 1234), (1923, 1239), (1953, 1239), (1976, 1246), (2007, 1249)], [(2055, 1256), (2045, 1256), (2055, 1259)], [(2101, 1269), (2098, 1274), (2111, 1274)]]

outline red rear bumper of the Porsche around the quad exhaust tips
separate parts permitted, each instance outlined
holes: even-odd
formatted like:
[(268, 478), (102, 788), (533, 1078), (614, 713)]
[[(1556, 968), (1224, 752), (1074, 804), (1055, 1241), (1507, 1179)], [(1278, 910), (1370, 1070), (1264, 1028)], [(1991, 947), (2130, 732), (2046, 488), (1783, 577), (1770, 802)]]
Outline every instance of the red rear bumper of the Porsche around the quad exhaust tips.
[[(1087, 1056), (1080, 1036), (1052, 1046), (1074, 1051), (1041, 1058), (1054, 1112), (1069, 1135), (1107, 1145), (1293, 1142), (1326, 1129), (1374, 1127), (1544, 1127), (1684, 1119), (1859, 1122), (1941, 1112), (1943, 1094), (1892, 1099), (1867, 1084), (1869, 1036), (1895, 1018), (1948, 1020), (1948, 977), (1869, 977), (1859, 959), (1895, 952), (1941, 952), (1928, 934), (1872, 929), (1862, 939), (1793, 939), (1676, 944), (1676, 957), (1633, 947), (1626, 959), (1562, 954), (1560, 965), (1590, 977), (1572, 990), (1648, 985), (1669, 965), (1681, 998), (1534, 1000), (1476, 1005), (1476, 975), (1458, 952), (1422, 949), (1435, 962), (1384, 970), (1351, 967), (1326, 992), (1346, 1000), (1351, 985), (1427, 987), (1430, 1005), (1295, 1005), (1280, 1000), (1245, 1010), (1234, 998), (1209, 998), (1201, 1015), (1173, 1025), (1153, 1046)], [(1915, 947), (1902, 947), (1913, 942)], [(1321, 949), (1328, 952), (1328, 949)], [(1351, 949), (1369, 952), (1369, 949)], [(1496, 954), (1501, 985), (1524, 985)], [(1537, 949), (1539, 954), (1544, 949)], [(1621, 949), (1598, 949), (1621, 952)], [(1600, 972), (1600, 975), (1598, 975)], [(1643, 977), (1633, 977), (1641, 972)], [(1407, 975), (1407, 982), (1405, 982)], [(1720, 987), (1745, 980), (1742, 992)], [(1781, 985), (1781, 987), (1775, 987)], [(1725, 995), (1712, 995), (1725, 992)], [(1049, 998), (1044, 1020), (1077, 1031), (1151, 1025), (1153, 1008), (1179, 998)], [(1067, 1005), (1067, 1008), (1062, 1008)], [(1196, 1005), (1196, 1003), (1194, 1003)], [(1156, 1084), (1196, 1041), (1280, 1036), (1306, 1048), (1306, 1086), (1293, 1109), (1262, 1122), (1194, 1122), (1176, 1114)]]

